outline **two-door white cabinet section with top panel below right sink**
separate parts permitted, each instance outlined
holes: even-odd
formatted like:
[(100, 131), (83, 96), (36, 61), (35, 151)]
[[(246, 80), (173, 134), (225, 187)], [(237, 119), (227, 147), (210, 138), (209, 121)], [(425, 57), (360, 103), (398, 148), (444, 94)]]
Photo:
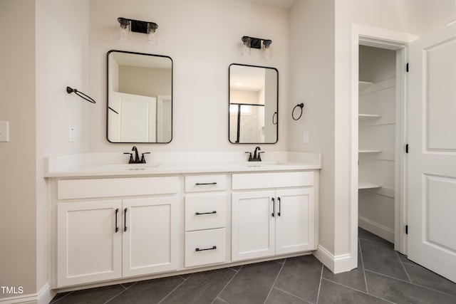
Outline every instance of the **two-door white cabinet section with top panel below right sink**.
[(232, 261), (316, 249), (314, 174), (232, 175)]

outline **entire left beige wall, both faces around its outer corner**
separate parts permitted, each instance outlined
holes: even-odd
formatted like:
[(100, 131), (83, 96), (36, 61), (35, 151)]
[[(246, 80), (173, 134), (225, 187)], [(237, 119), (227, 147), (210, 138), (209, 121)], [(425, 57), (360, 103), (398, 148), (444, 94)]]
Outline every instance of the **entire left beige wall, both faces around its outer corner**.
[[(88, 0), (2, 0), (0, 26), (9, 29), (0, 56), (0, 120), (11, 128), (10, 142), (0, 142), (0, 285), (22, 286), (22, 295), (37, 298), (51, 258), (43, 157), (88, 147), (86, 102), (65, 91), (88, 87)], [(74, 143), (68, 125), (76, 127)]]

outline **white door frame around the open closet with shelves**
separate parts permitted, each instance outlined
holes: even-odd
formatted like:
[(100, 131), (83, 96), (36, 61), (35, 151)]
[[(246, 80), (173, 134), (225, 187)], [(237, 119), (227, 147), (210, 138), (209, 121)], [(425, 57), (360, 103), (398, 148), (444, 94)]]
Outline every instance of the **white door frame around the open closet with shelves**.
[(405, 65), (408, 43), (417, 35), (383, 28), (352, 24), (351, 39), (351, 198), (350, 236), (351, 268), (358, 267), (358, 80), (359, 45), (396, 51), (396, 125), (395, 125), (395, 250), (407, 253), (405, 224), (407, 223), (407, 162), (402, 147), (407, 140), (407, 82)]

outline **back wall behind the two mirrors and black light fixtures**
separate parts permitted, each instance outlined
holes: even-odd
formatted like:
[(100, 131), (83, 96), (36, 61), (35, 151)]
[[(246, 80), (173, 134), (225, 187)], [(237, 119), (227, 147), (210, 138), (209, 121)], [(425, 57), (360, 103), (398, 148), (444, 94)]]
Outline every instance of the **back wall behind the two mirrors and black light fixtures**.
[[(178, 8), (178, 9), (177, 9)], [(117, 18), (158, 24), (158, 46), (145, 34), (130, 33), (130, 42), (116, 38)], [(261, 58), (252, 49), (241, 56), (242, 36), (269, 38), (273, 57)], [(106, 53), (111, 49), (170, 56), (173, 60), (173, 129), (170, 144), (139, 145), (150, 152), (239, 151), (255, 145), (232, 145), (228, 140), (228, 67), (231, 63), (264, 65), (279, 70), (279, 142), (262, 150), (288, 147), (288, 11), (246, 1), (226, 0), (90, 0), (90, 150), (125, 152), (131, 145), (105, 139)]]

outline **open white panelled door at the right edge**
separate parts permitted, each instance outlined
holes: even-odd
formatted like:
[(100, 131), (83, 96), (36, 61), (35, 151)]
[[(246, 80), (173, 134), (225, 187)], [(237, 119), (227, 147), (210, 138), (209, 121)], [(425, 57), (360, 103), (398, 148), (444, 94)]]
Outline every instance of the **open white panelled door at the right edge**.
[(456, 25), (409, 53), (408, 258), (456, 282)]

